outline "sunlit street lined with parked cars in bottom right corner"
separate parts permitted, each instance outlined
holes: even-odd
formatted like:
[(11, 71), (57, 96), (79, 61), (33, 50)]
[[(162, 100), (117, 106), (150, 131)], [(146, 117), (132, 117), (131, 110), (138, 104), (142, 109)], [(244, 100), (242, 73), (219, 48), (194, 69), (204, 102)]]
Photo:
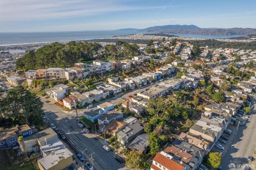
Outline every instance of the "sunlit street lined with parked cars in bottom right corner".
[(246, 164), (250, 164), (247, 160), (249, 156), (254, 155), (254, 149), (256, 147), (256, 104), (254, 104), (254, 110), (249, 118), (249, 122), (246, 125), (238, 128), (237, 135), (234, 137), (231, 147), (227, 150), (226, 155), (222, 158), (223, 169), (229, 168), (229, 165), (236, 165), (237, 169), (243, 169)]

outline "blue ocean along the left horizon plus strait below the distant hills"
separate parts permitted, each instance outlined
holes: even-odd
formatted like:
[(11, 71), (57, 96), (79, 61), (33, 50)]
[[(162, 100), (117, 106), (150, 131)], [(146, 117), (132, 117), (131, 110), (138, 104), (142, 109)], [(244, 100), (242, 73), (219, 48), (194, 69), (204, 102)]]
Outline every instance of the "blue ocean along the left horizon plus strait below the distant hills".
[[(114, 31), (69, 31), (69, 32), (49, 32), (49, 33), (0, 33), (0, 45), (16, 45), (29, 43), (48, 43), (62, 41), (79, 41), (96, 38), (111, 38), (118, 35), (129, 34), (150, 34), (148, 32), (133, 29), (114, 30)], [(182, 37), (199, 38), (230, 38), (237, 36), (203, 36), (203, 35), (178, 35)]]

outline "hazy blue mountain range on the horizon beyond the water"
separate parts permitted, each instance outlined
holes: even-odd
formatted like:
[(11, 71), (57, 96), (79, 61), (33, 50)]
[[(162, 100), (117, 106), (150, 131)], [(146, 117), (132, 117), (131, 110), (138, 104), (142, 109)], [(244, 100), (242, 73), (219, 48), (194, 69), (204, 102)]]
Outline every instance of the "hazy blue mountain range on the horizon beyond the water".
[[(125, 29), (121, 29), (125, 30)], [(191, 34), (191, 35), (250, 35), (256, 34), (254, 28), (199, 28), (195, 25), (154, 26), (145, 29), (129, 28), (127, 30), (143, 31), (158, 34)]]

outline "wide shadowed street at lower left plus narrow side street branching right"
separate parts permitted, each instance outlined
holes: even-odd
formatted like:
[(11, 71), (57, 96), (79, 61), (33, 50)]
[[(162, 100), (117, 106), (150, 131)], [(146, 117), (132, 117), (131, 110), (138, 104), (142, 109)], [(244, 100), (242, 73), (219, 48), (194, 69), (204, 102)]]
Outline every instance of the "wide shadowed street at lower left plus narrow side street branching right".
[[(146, 87), (129, 93), (118, 94), (114, 98), (107, 99), (103, 102), (110, 102), (116, 105), (126, 99), (129, 99), (129, 95), (138, 93), (139, 91), (143, 90), (144, 88), (148, 88), (149, 86), (150, 85), (147, 85)], [(45, 98), (42, 98), (43, 102), (45, 100)], [(93, 108), (90, 109), (77, 109), (78, 118), (83, 116), (85, 111), (97, 109), (98, 104), (103, 102), (93, 104)], [(125, 164), (119, 164), (115, 160), (113, 152), (106, 152), (102, 148), (104, 142), (100, 142), (100, 140), (94, 140), (94, 132), (86, 134), (85, 132), (83, 132), (82, 128), (78, 127), (75, 110), (64, 111), (57, 105), (55, 105), (53, 101), (49, 103), (44, 102), (43, 108), (44, 111), (47, 113), (45, 115), (47, 119), (49, 119), (51, 123), (56, 125), (63, 133), (67, 135), (68, 140), (74, 145), (77, 151), (79, 151), (80, 153), (83, 152), (87, 160), (89, 160), (91, 154), (93, 155), (93, 166), (95, 167), (95, 169), (129, 169), (125, 167)]]

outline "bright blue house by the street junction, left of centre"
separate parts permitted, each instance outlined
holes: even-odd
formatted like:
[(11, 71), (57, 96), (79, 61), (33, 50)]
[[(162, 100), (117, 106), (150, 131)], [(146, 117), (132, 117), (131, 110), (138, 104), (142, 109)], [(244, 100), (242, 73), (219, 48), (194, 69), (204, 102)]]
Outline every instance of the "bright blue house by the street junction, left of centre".
[(113, 104), (105, 102), (105, 103), (99, 104), (98, 109), (85, 112), (84, 115), (86, 119), (91, 120), (91, 122), (95, 122), (95, 120), (97, 120), (101, 115), (106, 114), (108, 111), (113, 109), (114, 109)]

